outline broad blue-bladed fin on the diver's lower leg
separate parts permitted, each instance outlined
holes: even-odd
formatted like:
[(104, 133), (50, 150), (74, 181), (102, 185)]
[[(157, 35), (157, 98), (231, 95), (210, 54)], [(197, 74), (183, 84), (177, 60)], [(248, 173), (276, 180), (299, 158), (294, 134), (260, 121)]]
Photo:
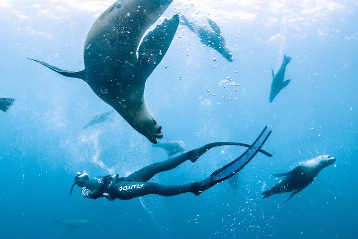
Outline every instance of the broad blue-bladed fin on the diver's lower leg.
[(250, 162), (250, 160), (259, 152), (261, 147), (264, 145), (266, 140), (269, 138), (271, 134), (270, 127), (266, 126), (264, 130), (261, 132), (259, 137), (255, 140), (255, 142), (243, 153), (240, 157), (235, 159), (234, 161), (226, 164), (222, 168), (213, 172), (210, 177), (212, 179), (213, 184), (217, 184), (225, 179), (230, 178), (237, 172), (239, 172), (242, 168), (245, 167), (246, 164)]

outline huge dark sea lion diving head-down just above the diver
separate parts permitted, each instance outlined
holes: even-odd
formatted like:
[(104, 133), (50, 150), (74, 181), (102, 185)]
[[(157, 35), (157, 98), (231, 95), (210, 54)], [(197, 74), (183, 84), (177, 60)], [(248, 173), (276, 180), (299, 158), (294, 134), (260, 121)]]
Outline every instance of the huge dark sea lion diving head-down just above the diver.
[[(172, 0), (117, 0), (93, 23), (84, 47), (85, 69), (72, 72), (34, 60), (61, 75), (86, 81), (93, 92), (113, 107), (152, 143), (162, 138), (162, 126), (144, 98), (145, 82), (167, 52), (179, 16), (165, 19), (141, 42)], [(140, 44), (141, 43), (141, 44)], [(138, 57), (137, 57), (138, 48)]]

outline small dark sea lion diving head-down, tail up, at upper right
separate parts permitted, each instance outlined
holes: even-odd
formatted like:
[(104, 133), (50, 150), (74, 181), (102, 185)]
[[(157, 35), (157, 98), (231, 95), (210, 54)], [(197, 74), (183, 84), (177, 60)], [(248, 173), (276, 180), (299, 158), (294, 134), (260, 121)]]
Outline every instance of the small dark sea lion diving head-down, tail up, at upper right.
[(277, 94), (285, 88), (288, 83), (290, 83), (291, 80), (283, 81), (284, 79), (284, 73), (286, 71), (287, 64), (291, 61), (291, 57), (283, 55), (283, 62), (281, 67), (278, 69), (276, 74), (273, 73), (273, 69), (271, 68), (272, 72), (272, 84), (271, 84), (271, 92), (269, 96), (270, 103), (273, 101), (273, 99), (277, 96)]

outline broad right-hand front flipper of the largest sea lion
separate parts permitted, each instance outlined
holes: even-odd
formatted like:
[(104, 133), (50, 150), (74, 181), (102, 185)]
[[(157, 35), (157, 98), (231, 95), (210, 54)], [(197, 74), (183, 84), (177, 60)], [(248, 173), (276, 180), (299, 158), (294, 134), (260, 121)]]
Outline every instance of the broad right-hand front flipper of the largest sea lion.
[[(179, 25), (179, 15), (172, 19), (165, 19), (162, 24), (156, 26), (143, 39), (139, 46), (139, 66), (142, 72), (150, 75), (163, 59), (167, 52)], [(147, 69), (143, 69), (143, 67)]]

